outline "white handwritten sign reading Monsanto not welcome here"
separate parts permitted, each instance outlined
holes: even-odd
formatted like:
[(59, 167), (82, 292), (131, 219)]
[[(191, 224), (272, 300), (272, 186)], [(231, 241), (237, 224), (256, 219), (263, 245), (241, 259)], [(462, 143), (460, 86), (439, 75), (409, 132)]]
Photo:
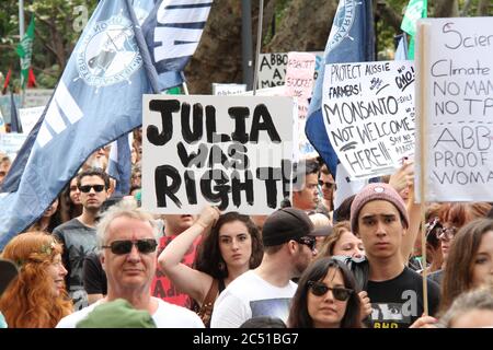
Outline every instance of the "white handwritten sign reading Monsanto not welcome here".
[(391, 174), (414, 153), (412, 62), (326, 65), (322, 113), (351, 179)]

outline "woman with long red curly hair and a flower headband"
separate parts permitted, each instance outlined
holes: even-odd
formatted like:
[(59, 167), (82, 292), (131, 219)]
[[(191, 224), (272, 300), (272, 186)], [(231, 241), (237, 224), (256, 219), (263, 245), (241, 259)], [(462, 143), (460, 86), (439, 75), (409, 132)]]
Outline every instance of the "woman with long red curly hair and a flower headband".
[(20, 234), (4, 247), (1, 257), (19, 266), (18, 277), (0, 298), (0, 312), (10, 328), (54, 328), (72, 313), (61, 250), (44, 232)]

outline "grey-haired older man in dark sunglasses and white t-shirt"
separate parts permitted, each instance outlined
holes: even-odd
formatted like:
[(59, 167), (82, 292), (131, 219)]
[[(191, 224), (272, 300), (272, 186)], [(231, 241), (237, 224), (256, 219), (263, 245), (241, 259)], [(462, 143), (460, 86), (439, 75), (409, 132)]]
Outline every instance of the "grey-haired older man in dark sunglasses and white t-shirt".
[(138, 209), (131, 199), (122, 200), (105, 211), (98, 224), (98, 247), (102, 250), (101, 262), (107, 277), (106, 298), (64, 317), (57, 327), (73, 328), (99, 305), (124, 299), (134, 308), (148, 312), (158, 328), (204, 328), (192, 311), (150, 295), (157, 264), (157, 236), (153, 218)]

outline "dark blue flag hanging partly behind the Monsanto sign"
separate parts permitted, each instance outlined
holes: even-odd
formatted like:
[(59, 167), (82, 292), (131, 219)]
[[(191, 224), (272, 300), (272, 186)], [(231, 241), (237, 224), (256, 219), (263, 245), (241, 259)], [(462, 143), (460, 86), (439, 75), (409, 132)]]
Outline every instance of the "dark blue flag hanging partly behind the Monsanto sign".
[[(375, 56), (374, 50), (375, 37), (371, 0), (341, 0), (326, 42), (323, 63), (317, 78), (305, 127), (308, 140), (322, 156), (324, 163), (339, 183), (345, 180), (346, 176), (339, 176), (339, 179), (336, 177), (337, 168), (342, 166), (337, 166), (337, 155), (329, 141), (321, 109), (325, 65), (371, 61)], [(342, 187), (337, 185), (340, 194), (345, 191)], [(348, 189), (347, 194), (351, 194), (351, 191)], [(342, 198), (342, 196), (337, 197), (340, 199)], [(335, 207), (337, 207), (337, 203)]]

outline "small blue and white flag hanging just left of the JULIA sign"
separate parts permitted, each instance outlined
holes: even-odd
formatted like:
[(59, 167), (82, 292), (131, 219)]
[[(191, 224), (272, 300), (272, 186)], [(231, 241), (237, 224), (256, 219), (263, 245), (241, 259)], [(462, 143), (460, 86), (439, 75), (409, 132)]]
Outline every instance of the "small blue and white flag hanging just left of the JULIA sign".
[(113, 141), (106, 172), (116, 180), (115, 192), (128, 195), (131, 177), (131, 152), (128, 133), (122, 135), (116, 141)]

